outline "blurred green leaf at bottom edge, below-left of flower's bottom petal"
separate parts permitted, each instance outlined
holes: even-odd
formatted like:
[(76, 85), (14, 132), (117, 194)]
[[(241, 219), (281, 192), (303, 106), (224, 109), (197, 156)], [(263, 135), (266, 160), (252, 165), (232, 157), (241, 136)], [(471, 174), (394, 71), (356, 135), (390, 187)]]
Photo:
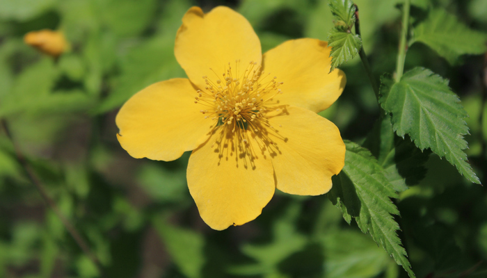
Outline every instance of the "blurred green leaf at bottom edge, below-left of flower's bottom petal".
[(179, 270), (189, 278), (202, 277), (202, 268), (206, 261), (203, 236), (194, 231), (170, 225), (161, 218), (154, 218), (152, 223), (164, 240), (166, 250)]

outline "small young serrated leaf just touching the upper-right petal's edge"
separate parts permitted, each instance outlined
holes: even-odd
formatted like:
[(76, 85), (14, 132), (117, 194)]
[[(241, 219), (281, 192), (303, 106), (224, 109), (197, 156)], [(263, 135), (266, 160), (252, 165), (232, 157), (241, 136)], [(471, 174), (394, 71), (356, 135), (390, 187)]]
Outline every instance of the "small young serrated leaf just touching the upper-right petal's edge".
[(357, 56), (362, 47), (362, 39), (359, 35), (340, 31), (339, 28), (333, 28), (328, 36), (328, 47), (331, 47), (331, 68), (332, 72), (335, 67), (342, 65), (347, 60)]

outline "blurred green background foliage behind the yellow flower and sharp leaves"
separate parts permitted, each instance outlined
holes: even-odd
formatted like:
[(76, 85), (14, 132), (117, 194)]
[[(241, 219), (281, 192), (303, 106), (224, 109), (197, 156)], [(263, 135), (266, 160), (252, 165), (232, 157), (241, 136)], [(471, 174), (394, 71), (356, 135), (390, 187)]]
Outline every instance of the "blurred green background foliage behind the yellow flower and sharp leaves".
[[(377, 78), (393, 72), (401, 1), (355, 0), (363, 46)], [(115, 138), (118, 108), (151, 83), (184, 77), (174, 54), (191, 6), (226, 5), (255, 28), (263, 51), (301, 37), (326, 40), (326, 0), (1, 0), (0, 117), (103, 266), (100, 272), (47, 208), (0, 131), (0, 277), (407, 277), (388, 254), (346, 224), (326, 196), (277, 193), (257, 220), (213, 231), (186, 186), (189, 154), (177, 161), (131, 158)], [(415, 0), (487, 31), (485, 0)], [(70, 50), (57, 59), (23, 42), (29, 31), (61, 30)], [(450, 65), (422, 44), (420, 65), (444, 78), (470, 115), (470, 163), (486, 183), (487, 90), (483, 56)], [(342, 137), (362, 142), (378, 119), (358, 58), (347, 85), (321, 113)], [(486, 80), (484, 80), (486, 82)], [(487, 191), (431, 155), (426, 177), (395, 200), (399, 236), (417, 277), (487, 277)]]

